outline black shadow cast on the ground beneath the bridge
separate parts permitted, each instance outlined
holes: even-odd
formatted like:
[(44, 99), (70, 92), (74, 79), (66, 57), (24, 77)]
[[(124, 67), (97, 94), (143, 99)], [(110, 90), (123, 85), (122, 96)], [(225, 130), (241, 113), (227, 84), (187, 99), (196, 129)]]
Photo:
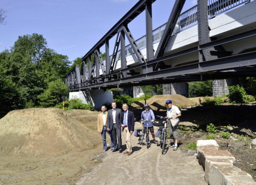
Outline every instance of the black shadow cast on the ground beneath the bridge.
[[(138, 102), (139, 103), (139, 102)], [(163, 106), (153, 103), (154, 106), (159, 106), (157, 110), (153, 110), (155, 115), (166, 116), (166, 111), (162, 111)], [(152, 104), (152, 105), (153, 105)], [(136, 120), (140, 120), (142, 107), (129, 107), (134, 112)], [(161, 110), (161, 111), (158, 111)], [(250, 129), (251, 132), (256, 132), (256, 103), (254, 104), (234, 104), (225, 103), (218, 106), (197, 106), (194, 108), (181, 109), (181, 122), (190, 122), (198, 125), (196, 129), (206, 129), (206, 126), (213, 123), (215, 126), (230, 125), (234, 129), (232, 132), (239, 135), (247, 135), (243, 129)], [(157, 119), (157, 117), (156, 117)], [(157, 119), (159, 120), (159, 119)], [(160, 126), (159, 123), (154, 124)], [(192, 126), (188, 126), (192, 127)]]

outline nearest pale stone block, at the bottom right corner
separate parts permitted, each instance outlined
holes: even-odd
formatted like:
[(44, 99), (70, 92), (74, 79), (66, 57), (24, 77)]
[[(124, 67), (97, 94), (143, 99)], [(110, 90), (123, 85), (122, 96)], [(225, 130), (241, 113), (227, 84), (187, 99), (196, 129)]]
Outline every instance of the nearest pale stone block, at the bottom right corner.
[(249, 173), (242, 171), (240, 168), (231, 164), (211, 164), (209, 171), (209, 184), (210, 185), (232, 185), (231, 182), (248, 181), (254, 182)]

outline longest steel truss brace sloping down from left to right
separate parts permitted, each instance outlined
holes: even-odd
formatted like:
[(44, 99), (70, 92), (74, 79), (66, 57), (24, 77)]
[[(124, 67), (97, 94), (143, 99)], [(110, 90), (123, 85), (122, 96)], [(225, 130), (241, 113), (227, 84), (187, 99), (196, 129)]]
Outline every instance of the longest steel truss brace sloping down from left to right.
[(122, 29), (124, 31), (124, 33), (126, 34), (126, 37), (128, 38), (128, 41), (130, 42), (130, 45), (133, 48), (133, 51), (136, 55), (136, 57), (138, 58), (140, 64), (145, 62), (145, 58), (142, 55), (140, 48), (138, 47), (135, 39), (133, 38), (133, 35), (130, 33), (130, 30), (128, 29), (127, 26), (122, 26)]

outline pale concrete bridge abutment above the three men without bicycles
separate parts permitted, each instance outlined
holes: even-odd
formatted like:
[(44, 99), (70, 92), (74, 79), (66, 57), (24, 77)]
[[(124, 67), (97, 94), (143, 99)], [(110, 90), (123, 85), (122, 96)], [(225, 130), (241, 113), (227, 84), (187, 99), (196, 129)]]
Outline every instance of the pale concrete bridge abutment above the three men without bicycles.
[(70, 92), (69, 98), (78, 98), (82, 100), (82, 103), (91, 103), (96, 109), (100, 109), (103, 103), (111, 103), (113, 101), (112, 92), (104, 91), (103, 89)]

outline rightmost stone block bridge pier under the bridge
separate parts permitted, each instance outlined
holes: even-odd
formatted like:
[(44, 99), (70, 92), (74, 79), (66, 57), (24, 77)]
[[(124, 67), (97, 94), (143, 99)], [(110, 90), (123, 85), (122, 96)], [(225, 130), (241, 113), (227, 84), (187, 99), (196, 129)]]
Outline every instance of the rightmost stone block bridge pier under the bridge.
[(222, 96), (222, 94), (229, 94), (227, 86), (238, 84), (237, 78), (229, 79), (215, 79), (213, 80), (213, 96)]

